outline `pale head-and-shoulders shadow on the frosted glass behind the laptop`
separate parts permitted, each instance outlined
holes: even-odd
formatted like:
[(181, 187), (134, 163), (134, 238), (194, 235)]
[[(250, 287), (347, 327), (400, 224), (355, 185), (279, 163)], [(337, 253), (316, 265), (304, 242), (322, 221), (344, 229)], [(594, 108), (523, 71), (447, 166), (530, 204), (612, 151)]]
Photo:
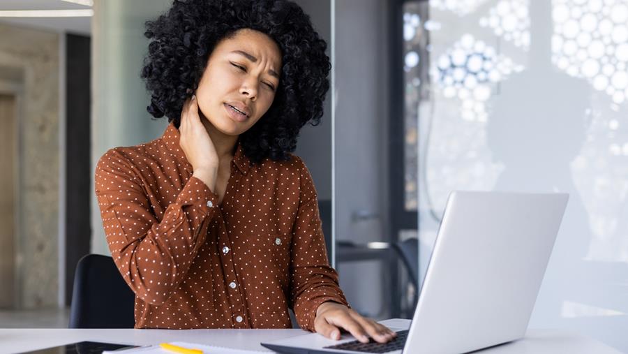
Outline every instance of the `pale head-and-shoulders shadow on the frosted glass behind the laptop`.
[[(549, 66), (533, 66), (502, 84), (502, 96), (488, 119), (487, 139), (505, 168), (495, 190), (569, 193), (530, 325), (571, 328), (616, 343), (618, 338), (604, 328), (628, 320), (622, 286), (628, 266), (618, 272), (619, 263), (586, 259), (591, 226), (570, 170), (585, 139), (589, 92), (583, 80)], [(608, 307), (611, 311), (603, 311)], [(583, 313), (587, 308), (594, 310)]]

